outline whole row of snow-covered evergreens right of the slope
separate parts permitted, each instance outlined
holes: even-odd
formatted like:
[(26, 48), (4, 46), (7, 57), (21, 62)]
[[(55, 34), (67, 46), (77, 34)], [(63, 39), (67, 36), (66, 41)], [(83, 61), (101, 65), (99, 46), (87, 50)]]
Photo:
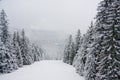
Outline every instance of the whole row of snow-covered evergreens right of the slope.
[(120, 80), (120, 0), (102, 0), (97, 10), (79, 41), (69, 37), (63, 61), (85, 80)]

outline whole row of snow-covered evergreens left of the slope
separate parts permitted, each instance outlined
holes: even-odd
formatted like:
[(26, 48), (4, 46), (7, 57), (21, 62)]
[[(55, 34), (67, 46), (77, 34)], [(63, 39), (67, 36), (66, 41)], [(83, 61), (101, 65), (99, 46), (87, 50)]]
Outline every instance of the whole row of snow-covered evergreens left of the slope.
[(9, 32), (7, 15), (0, 12), (0, 74), (11, 73), (43, 58), (43, 50), (31, 43), (22, 31)]

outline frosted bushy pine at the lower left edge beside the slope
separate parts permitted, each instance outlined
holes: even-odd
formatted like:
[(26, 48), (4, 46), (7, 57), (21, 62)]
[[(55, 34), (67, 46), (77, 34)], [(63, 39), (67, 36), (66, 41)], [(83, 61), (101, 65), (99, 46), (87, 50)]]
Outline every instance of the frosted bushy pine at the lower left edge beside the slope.
[(16, 56), (9, 50), (9, 47), (0, 41), (0, 74), (10, 73), (18, 69), (15, 60)]

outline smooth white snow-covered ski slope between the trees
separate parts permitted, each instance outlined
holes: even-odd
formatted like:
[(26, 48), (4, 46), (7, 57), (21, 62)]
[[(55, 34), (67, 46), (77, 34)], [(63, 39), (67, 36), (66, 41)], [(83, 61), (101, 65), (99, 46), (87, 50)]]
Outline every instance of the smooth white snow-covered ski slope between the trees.
[(44, 60), (10, 73), (0, 80), (84, 80), (75, 69), (62, 61)]

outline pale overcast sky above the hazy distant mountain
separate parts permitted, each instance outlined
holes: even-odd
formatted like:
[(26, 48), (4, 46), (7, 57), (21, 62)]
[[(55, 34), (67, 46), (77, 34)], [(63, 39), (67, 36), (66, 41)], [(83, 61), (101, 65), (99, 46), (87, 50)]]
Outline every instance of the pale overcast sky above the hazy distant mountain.
[(10, 26), (85, 33), (100, 0), (2, 0)]

